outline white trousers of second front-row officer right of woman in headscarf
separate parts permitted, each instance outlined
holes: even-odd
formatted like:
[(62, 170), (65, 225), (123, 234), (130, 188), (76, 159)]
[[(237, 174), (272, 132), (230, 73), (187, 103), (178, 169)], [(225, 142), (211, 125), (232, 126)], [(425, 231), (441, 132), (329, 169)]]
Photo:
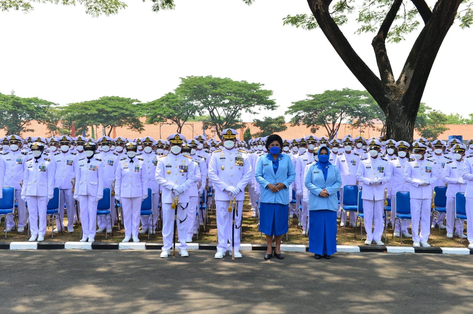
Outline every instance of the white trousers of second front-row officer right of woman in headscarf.
[[(411, 199), (412, 241), (426, 241), (430, 235), (432, 199)], [(419, 234), (420, 222), (420, 234)]]

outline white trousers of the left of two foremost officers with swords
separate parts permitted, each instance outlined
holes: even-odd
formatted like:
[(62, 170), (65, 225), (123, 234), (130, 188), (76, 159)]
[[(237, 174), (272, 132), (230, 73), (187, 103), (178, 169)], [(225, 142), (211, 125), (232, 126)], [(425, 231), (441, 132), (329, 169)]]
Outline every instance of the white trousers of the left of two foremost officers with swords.
[[(185, 243), (187, 230), (186, 230), (186, 221), (185, 215), (187, 211), (182, 210), (181, 206), (185, 207), (187, 205), (177, 204), (177, 237), (179, 241), (179, 250), (187, 250), (187, 244)], [(174, 213), (175, 209), (171, 208), (171, 203), (163, 203), (163, 251), (169, 251), (173, 247), (173, 236), (174, 236)], [(180, 223), (179, 221), (183, 221)]]

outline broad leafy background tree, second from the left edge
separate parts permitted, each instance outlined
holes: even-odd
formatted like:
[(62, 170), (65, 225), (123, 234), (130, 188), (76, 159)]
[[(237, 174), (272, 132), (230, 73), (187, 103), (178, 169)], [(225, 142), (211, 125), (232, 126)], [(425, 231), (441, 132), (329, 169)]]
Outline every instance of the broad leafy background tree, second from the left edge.
[(64, 107), (64, 117), (74, 122), (78, 132), (89, 125), (103, 125), (107, 136), (114, 127), (127, 126), (130, 130), (143, 131), (138, 99), (118, 96), (103, 96), (96, 100), (69, 104)]

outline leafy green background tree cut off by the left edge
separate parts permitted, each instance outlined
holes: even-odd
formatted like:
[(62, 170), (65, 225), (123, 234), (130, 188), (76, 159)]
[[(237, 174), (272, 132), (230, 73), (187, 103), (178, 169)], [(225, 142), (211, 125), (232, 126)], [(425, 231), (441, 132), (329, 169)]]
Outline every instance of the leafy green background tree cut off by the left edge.
[(53, 102), (40, 99), (38, 97), (23, 98), (15, 95), (12, 91), (10, 95), (0, 93), (0, 128), (6, 134), (18, 134), (23, 132), (33, 132), (28, 129), (32, 120), (43, 122), (46, 118), (46, 111), (50, 106), (56, 105)]

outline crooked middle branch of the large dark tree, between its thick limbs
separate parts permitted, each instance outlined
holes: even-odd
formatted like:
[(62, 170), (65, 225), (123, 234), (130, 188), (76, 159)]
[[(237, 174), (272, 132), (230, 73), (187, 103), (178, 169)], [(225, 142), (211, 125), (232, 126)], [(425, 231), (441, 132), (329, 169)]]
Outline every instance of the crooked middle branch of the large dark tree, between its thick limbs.
[(381, 80), (388, 85), (394, 85), (394, 74), (393, 68), (391, 67), (391, 62), (387, 56), (386, 51), (386, 36), (389, 32), (389, 29), (393, 25), (394, 19), (396, 18), (397, 11), (401, 7), (403, 0), (394, 0), (391, 8), (386, 14), (386, 17), (379, 26), (377, 35), (373, 38), (371, 45), (375, 50), (376, 63), (378, 65), (379, 76)]

